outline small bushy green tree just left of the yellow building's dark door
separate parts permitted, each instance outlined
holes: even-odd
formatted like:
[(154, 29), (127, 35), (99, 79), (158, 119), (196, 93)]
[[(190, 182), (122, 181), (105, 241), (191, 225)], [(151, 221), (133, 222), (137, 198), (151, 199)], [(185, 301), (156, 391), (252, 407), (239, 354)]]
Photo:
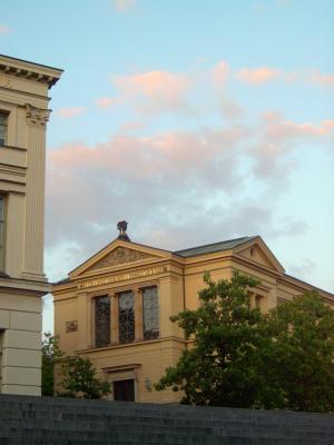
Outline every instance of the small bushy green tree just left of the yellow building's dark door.
[(110, 393), (110, 384), (96, 376), (89, 358), (66, 357), (62, 362), (62, 397), (102, 398)]

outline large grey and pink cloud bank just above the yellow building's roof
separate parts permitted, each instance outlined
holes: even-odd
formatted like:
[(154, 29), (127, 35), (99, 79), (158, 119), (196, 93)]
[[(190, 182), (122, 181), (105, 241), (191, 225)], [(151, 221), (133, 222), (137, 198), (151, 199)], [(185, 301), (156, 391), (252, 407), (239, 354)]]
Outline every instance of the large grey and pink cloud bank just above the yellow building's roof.
[[(301, 235), (305, 224), (277, 219), (274, 202), (288, 189), (297, 142), (320, 141), (333, 128), (330, 120), (297, 123), (267, 112), (256, 125), (144, 137), (121, 129), (105, 144), (49, 150), (47, 249), (70, 241), (79, 263), (117, 236), (120, 219), (130, 222), (134, 240), (170, 249)], [(209, 231), (202, 230), (206, 224)]]

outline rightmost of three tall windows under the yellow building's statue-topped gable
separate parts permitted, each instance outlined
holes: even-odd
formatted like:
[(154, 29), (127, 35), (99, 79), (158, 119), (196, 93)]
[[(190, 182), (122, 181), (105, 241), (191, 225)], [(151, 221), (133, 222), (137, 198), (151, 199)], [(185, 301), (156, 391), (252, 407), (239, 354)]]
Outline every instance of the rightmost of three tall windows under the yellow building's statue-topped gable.
[(143, 289), (144, 339), (159, 337), (159, 300), (157, 287)]

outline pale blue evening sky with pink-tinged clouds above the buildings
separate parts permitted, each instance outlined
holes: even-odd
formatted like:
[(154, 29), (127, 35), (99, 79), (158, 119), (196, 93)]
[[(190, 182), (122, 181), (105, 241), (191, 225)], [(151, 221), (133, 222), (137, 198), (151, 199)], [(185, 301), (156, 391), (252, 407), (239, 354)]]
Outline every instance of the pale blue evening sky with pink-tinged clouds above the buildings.
[(65, 70), (49, 280), (126, 219), (170, 250), (261, 235), (287, 274), (334, 293), (333, 23), (332, 0), (1, 1), (0, 53)]

